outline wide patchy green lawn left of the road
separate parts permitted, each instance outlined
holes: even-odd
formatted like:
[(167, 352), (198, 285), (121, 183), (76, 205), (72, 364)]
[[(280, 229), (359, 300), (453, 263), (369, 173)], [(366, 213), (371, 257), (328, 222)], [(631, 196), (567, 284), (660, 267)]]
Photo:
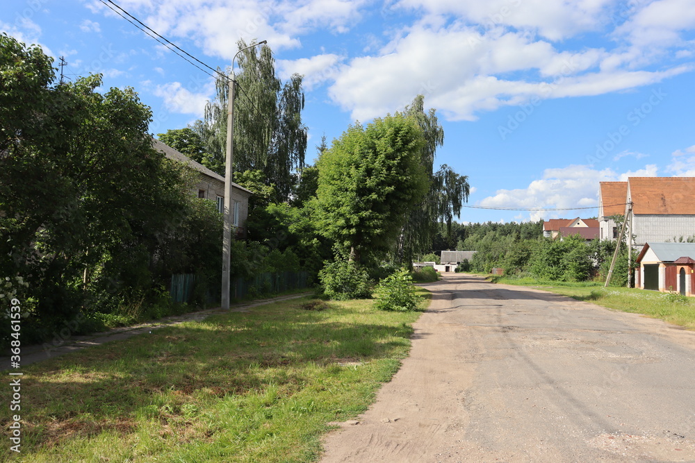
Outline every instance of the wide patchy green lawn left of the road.
[(372, 305), (299, 298), (26, 367), (22, 453), (0, 460), (316, 461), (328, 423), (366, 410), (409, 352), (420, 312)]

